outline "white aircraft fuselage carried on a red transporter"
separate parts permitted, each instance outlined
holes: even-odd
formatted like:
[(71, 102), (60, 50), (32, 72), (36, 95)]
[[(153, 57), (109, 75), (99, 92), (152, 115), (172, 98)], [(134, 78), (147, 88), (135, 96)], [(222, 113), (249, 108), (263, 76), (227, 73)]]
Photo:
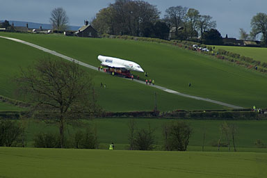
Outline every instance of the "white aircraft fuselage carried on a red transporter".
[(102, 62), (101, 65), (104, 65), (107, 67), (120, 68), (120, 69), (125, 69), (125, 70), (133, 70), (136, 72), (144, 72), (144, 70), (140, 67), (140, 65), (130, 60), (123, 60), (120, 58), (113, 58), (113, 57), (101, 56), (101, 55), (99, 55), (97, 58), (98, 60)]

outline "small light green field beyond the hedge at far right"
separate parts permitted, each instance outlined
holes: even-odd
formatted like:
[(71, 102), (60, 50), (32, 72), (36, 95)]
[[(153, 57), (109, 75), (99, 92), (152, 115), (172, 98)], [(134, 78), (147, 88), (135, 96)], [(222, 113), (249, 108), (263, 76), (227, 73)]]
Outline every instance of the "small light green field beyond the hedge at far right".
[(246, 56), (267, 63), (267, 48), (264, 47), (228, 47), (228, 46), (215, 46), (216, 49), (224, 49), (241, 56)]

